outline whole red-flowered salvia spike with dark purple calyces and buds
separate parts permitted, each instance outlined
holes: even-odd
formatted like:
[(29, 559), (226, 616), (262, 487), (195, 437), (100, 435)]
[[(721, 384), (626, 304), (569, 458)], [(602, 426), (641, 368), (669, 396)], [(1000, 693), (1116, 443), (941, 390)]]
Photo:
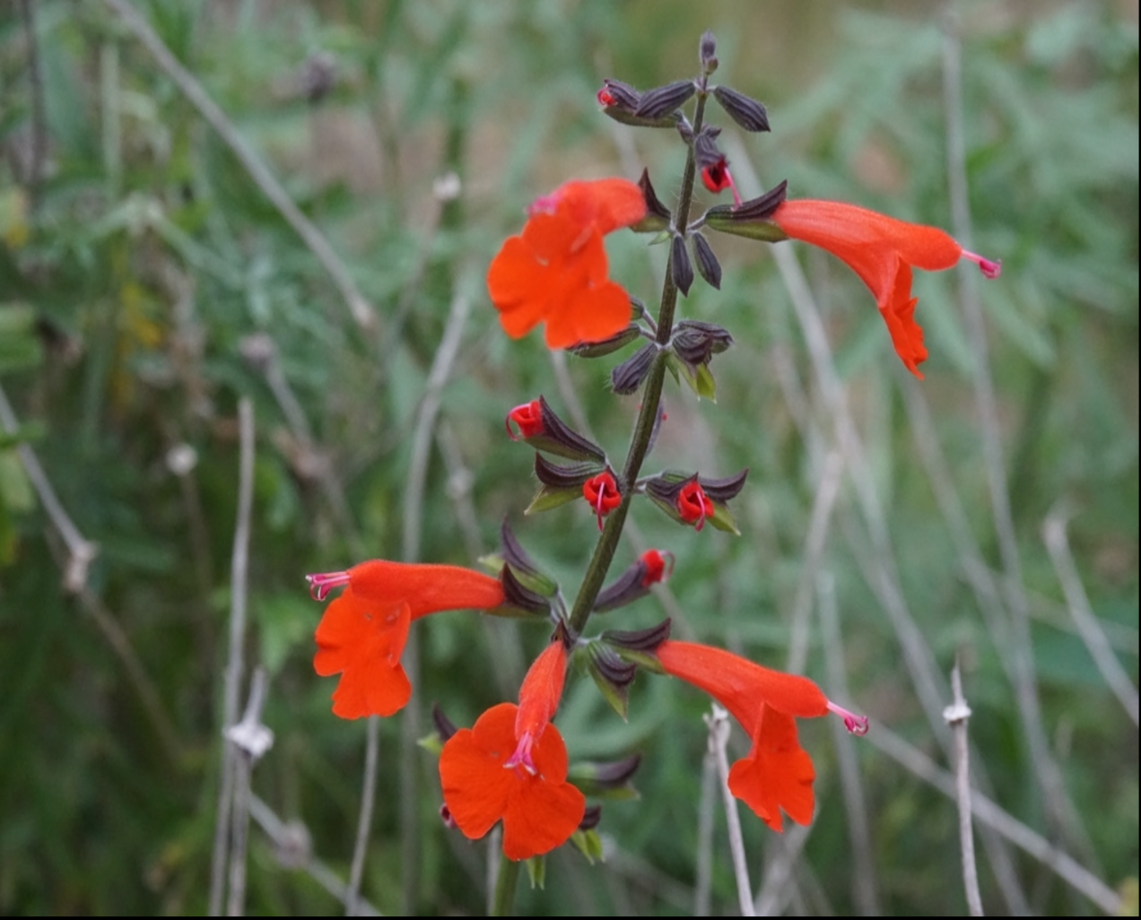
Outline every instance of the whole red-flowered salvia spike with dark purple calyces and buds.
[[(830, 700), (811, 679), (784, 674), (723, 649), (671, 636), (670, 621), (649, 629), (616, 628), (618, 611), (645, 597), (671, 575), (686, 577), (685, 560), (648, 549), (625, 571), (610, 576), (615, 551), (634, 502), (650, 502), (673, 524), (738, 534), (731, 504), (747, 471), (652, 469), (647, 461), (663, 422), (669, 380), (698, 397), (714, 393), (713, 363), (735, 343), (713, 323), (683, 317), (683, 298), (697, 283), (720, 287), (715, 253), (720, 234), (760, 243), (799, 239), (842, 259), (867, 285), (891, 344), (906, 367), (922, 376), (926, 358), (915, 319), (912, 269), (942, 270), (961, 259), (988, 278), (1000, 263), (965, 251), (940, 229), (907, 223), (853, 204), (787, 197), (780, 182), (743, 201), (719, 146), (722, 125), (763, 133), (764, 106), (712, 81), (715, 42), (699, 43), (694, 79), (639, 90), (607, 79), (598, 91), (602, 112), (632, 129), (652, 129), (686, 148), (685, 168), (667, 206), (648, 170), (640, 179), (569, 179), (534, 200), (527, 221), (487, 270), (487, 292), (503, 331), (521, 339), (542, 326), (550, 349), (565, 349), (610, 365), (615, 394), (637, 394), (640, 409), (625, 455), (614, 457), (577, 432), (543, 397), (516, 398), (505, 414), (507, 437), (535, 450), (539, 489), (520, 513), (578, 503), (599, 536), (573, 592), (524, 548), (510, 523), (499, 551), (482, 560), (485, 571), (444, 564), (370, 560), (343, 571), (308, 576), (315, 600), (331, 600), (316, 629), (314, 667), (337, 677), (333, 713), (341, 718), (391, 716), (413, 687), (400, 665), (415, 620), (430, 613), (471, 610), (515, 617), (549, 636), (518, 692), (456, 727), (437, 711), (440, 814), (472, 839), (502, 825), (496, 912), (510, 909), (518, 868), (527, 861), (542, 878), (544, 854), (566, 842), (588, 858), (600, 855), (599, 801), (629, 791), (637, 758), (581, 767), (555, 718), (567, 671), (589, 675), (606, 700), (626, 716), (628, 691), (639, 673), (678, 678), (704, 692), (748, 735), (747, 754), (728, 773), (731, 793), (774, 831), (784, 817), (807, 824), (816, 807), (815, 770), (798, 740), (796, 719), (843, 719), (864, 734), (868, 719)], [(727, 116), (727, 120), (726, 120)], [(733, 202), (699, 211), (698, 180)], [(656, 309), (609, 275), (605, 237), (622, 229), (669, 246)], [(746, 344), (747, 347), (747, 344)], [(609, 580), (608, 580), (609, 577)], [(599, 629), (594, 614), (606, 614)], [(592, 803), (593, 800), (593, 803)]]

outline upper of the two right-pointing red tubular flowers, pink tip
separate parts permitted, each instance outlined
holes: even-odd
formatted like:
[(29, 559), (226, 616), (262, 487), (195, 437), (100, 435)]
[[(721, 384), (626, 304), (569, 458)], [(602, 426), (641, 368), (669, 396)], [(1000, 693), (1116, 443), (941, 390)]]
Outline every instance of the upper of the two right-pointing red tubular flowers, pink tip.
[(860, 276), (888, 324), (896, 352), (922, 380), (926, 359), (923, 329), (915, 321), (912, 268), (941, 271), (960, 259), (977, 262), (987, 278), (997, 278), (1002, 262), (968, 252), (937, 227), (924, 227), (840, 202), (786, 201), (770, 218), (787, 236), (828, 250)]

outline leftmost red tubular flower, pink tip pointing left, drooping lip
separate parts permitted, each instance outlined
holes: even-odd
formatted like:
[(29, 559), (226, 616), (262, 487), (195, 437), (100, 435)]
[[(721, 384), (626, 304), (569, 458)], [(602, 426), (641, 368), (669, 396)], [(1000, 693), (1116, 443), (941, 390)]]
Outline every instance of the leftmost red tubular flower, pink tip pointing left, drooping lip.
[(504, 600), (499, 579), (458, 565), (377, 559), (306, 578), (318, 601), (347, 586), (317, 625), (313, 659), (322, 677), (341, 675), (332, 697), (341, 718), (390, 716), (408, 701), (400, 654), (412, 620), (442, 610), (491, 610)]

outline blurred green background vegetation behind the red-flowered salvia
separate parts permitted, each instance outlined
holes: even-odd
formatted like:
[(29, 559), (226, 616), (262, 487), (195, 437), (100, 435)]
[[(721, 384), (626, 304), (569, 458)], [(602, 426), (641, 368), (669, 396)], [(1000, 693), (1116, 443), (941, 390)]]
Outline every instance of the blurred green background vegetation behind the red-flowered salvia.
[[(483, 272), (566, 178), (648, 165), (672, 194), (675, 138), (610, 123), (594, 92), (690, 76), (706, 27), (718, 79), (769, 106), (771, 135), (723, 137), (746, 195), (787, 178), (793, 197), (972, 237), (1004, 272), (917, 277), (920, 383), (842, 264), (714, 241), (722, 291), (698, 282), (683, 309), (737, 344), (715, 405), (667, 388), (650, 464), (748, 466), (743, 536), (636, 507), (678, 568), (608, 625), (671, 613), (675, 634), (802, 670), (872, 717), (864, 740), (803, 726), (811, 828), (744, 815), (762, 910), (964, 912), (932, 772), (957, 653), (977, 783), (1012, 822), (978, 825), (988, 911), (1111, 912), (1119, 890), (1136, 914), (1136, 6), (1013, 0), (0, 7), (0, 912), (207, 910), (243, 600), (241, 698), (264, 667), (275, 734), (252, 777), (246, 910), (342, 910), (322, 881), (349, 876), (366, 726), (329, 711), (302, 576), (474, 565), (508, 515), (573, 593), (593, 519), (523, 516), (532, 455), (503, 416), (543, 392), (621, 456), (636, 407), (606, 361), (508, 341)], [(652, 302), (662, 247), (608, 246)], [(440, 825), (413, 741), (431, 701), (470, 724), (512, 699), (545, 637), (462, 613), (416, 627), (413, 705), (380, 726), (362, 886), (378, 910), (484, 910), (485, 847)], [(521, 912), (736, 911), (698, 770), (706, 708), (640, 678), (623, 724), (572, 681), (572, 757), (640, 751), (641, 798), (607, 805), (605, 864), (553, 854)]]

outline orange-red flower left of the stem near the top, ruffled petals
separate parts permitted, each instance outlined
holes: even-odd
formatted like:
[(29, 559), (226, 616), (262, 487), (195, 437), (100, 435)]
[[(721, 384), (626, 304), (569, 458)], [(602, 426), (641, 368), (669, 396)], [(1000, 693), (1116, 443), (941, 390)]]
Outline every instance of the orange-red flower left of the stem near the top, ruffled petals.
[(548, 348), (600, 342), (630, 321), (630, 298), (607, 277), (602, 237), (646, 215), (641, 189), (625, 179), (569, 181), (528, 209), (487, 269), (500, 323), (519, 339), (547, 324)]

